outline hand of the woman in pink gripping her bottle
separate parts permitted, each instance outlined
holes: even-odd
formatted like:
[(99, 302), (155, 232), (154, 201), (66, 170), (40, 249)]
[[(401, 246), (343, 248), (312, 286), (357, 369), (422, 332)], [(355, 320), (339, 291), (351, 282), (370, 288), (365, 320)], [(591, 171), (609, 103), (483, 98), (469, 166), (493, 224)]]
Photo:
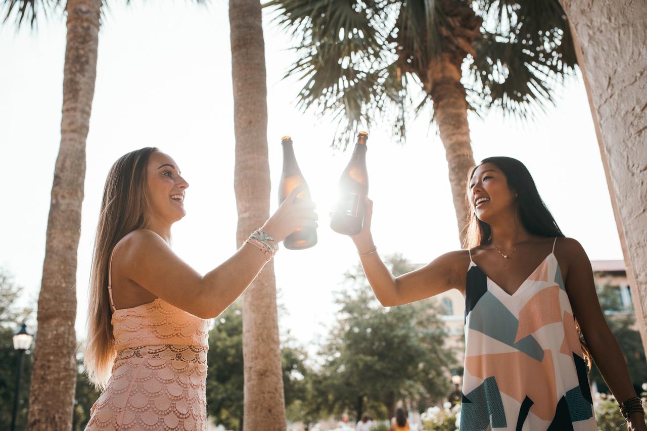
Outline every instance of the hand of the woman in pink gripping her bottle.
[(318, 227), (318, 216), (314, 212), (316, 207), (314, 203), (297, 199), (297, 195), (305, 191), (306, 188), (307, 186), (303, 184), (292, 190), (278, 210), (272, 214), (261, 228), (263, 232), (272, 236), (276, 242), (283, 241), (285, 237), (298, 228)]

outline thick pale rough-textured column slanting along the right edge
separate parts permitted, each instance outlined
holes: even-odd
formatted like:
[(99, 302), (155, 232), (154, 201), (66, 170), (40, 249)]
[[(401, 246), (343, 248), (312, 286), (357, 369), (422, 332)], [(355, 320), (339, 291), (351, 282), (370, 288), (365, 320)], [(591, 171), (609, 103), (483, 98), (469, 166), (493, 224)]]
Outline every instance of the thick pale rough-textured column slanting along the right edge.
[(560, 1), (576, 38), (578, 65), (647, 351), (647, 3)]

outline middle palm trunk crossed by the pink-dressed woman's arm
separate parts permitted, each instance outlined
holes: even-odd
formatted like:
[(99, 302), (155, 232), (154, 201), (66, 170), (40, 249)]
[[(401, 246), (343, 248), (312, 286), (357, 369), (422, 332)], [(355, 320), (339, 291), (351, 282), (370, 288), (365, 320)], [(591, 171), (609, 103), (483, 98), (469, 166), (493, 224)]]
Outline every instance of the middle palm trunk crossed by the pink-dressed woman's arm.
[[(249, 234), (265, 223), (270, 208), (267, 78), (259, 1), (231, 0), (229, 22), (236, 134), (236, 240), (240, 247)], [(285, 430), (276, 280), (272, 262), (243, 294), (243, 362), (243, 430)]]

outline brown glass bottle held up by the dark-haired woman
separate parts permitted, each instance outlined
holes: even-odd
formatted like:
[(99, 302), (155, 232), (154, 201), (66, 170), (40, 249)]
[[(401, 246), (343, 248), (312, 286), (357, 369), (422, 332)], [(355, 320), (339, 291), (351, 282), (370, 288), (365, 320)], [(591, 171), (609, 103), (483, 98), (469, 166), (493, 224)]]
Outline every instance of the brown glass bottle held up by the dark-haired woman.
[(368, 193), (366, 171), (366, 140), (368, 133), (360, 131), (357, 143), (342, 177), (339, 179), (337, 204), (330, 218), (330, 227), (340, 234), (356, 235), (364, 225), (364, 197)]

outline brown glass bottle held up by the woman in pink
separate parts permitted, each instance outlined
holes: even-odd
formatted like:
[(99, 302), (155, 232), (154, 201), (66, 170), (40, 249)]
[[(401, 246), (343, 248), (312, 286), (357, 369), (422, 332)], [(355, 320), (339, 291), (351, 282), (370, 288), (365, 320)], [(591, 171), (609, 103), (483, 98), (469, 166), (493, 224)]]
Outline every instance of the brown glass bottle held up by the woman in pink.
[[(292, 138), (284, 136), (281, 138), (281, 145), (283, 146), (283, 172), (281, 173), (281, 181), (279, 183), (279, 204), (285, 201), (287, 195), (301, 184), (307, 184), (299, 165), (296, 164), (296, 157), (294, 157), (294, 148), (292, 148)], [(299, 193), (296, 200), (311, 200), (310, 190), (307, 188)], [(283, 245), (286, 249), (290, 250), (303, 250), (313, 247), (317, 243), (317, 230), (311, 227), (298, 228), (292, 234), (283, 240)]]

